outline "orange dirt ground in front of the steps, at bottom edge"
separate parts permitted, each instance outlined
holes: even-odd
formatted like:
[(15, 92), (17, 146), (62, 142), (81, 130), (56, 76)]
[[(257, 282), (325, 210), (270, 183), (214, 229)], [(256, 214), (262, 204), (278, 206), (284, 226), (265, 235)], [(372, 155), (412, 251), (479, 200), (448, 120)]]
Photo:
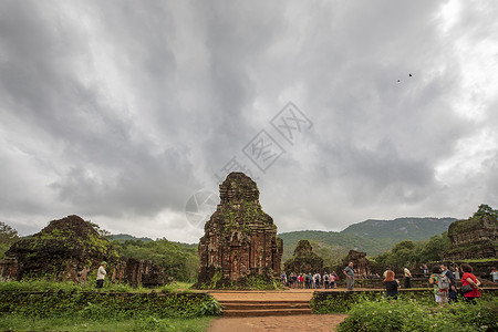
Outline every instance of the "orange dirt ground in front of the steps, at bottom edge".
[(208, 332), (335, 331), (345, 318), (345, 314), (219, 318), (212, 321)]

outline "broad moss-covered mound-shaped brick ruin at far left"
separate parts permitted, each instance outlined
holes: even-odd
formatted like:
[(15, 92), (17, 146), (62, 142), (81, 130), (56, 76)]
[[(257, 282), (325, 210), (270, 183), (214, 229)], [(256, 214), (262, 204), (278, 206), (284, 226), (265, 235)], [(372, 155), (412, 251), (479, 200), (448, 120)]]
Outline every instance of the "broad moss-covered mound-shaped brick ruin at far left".
[[(164, 270), (151, 261), (123, 259), (111, 242), (79, 216), (53, 220), (40, 232), (14, 242), (0, 261), (0, 277), (46, 278), (85, 282), (95, 279), (102, 261), (107, 278), (132, 286), (165, 283)], [(92, 280), (93, 281), (93, 280)]]

